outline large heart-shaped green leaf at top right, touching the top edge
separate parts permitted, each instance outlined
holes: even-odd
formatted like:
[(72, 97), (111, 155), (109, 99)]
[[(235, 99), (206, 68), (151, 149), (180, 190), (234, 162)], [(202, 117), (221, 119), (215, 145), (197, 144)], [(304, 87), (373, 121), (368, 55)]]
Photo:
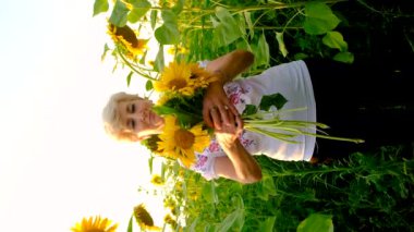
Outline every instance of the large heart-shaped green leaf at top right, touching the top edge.
[(322, 35), (341, 22), (324, 2), (309, 1), (305, 4), (304, 29), (309, 35)]

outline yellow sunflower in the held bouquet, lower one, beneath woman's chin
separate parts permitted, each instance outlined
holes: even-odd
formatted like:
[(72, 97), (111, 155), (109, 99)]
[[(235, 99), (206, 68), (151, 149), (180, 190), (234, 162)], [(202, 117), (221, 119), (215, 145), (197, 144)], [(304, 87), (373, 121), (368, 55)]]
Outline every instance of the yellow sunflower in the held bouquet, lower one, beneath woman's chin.
[(166, 124), (163, 133), (159, 135), (158, 149), (162, 150), (162, 155), (180, 159), (185, 167), (190, 167), (195, 161), (194, 151), (202, 152), (208, 146), (210, 138), (202, 124), (186, 130), (179, 126), (175, 121), (172, 115), (165, 118)]

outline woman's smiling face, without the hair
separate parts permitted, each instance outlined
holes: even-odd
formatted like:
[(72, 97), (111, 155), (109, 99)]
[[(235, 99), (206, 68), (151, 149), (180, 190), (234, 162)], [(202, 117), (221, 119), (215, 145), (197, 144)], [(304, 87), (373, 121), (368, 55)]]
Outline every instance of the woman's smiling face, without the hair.
[(151, 134), (159, 134), (163, 126), (163, 119), (153, 110), (153, 102), (146, 99), (132, 99), (118, 103), (120, 123), (123, 127), (135, 132), (141, 138)]

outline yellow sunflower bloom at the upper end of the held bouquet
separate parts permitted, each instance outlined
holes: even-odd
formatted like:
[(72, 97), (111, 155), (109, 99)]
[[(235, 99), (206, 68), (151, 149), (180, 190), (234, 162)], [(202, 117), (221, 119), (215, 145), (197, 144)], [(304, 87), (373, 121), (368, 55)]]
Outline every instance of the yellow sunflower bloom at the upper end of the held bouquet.
[(160, 80), (154, 84), (154, 88), (157, 91), (193, 96), (195, 89), (207, 87), (214, 81), (216, 77), (199, 68), (197, 63), (173, 61), (165, 68)]

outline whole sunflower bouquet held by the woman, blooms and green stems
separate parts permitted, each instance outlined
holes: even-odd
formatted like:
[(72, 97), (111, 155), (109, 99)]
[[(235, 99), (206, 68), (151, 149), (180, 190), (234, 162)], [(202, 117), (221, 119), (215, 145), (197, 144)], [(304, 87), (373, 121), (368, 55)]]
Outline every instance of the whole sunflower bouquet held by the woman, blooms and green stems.
[[(195, 151), (202, 152), (210, 143), (212, 130), (203, 121), (203, 99), (206, 88), (217, 77), (197, 63), (171, 62), (154, 83), (160, 99), (155, 112), (165, 118), (163, 132), (143, 142), (153, 152), (162, 157), (179, 159), (185, 167), (195, 161)], [(288, 100), (280, 94), (264, 96), (258, 107), (247, 105), (242, 113), (244, 129), (265, 134), (288, 143), (297, 143), (297, 135), (310, 135), (329, 139), (362, 143), (361, 139), (333, 137), (325, 134), (307, 133), (305, 129), (328, 126), (318, 122), (281, 120)], [(270, 110), (275, 106), (278, 110)], [(278, 132), (275, 132), (278, 130)]]

